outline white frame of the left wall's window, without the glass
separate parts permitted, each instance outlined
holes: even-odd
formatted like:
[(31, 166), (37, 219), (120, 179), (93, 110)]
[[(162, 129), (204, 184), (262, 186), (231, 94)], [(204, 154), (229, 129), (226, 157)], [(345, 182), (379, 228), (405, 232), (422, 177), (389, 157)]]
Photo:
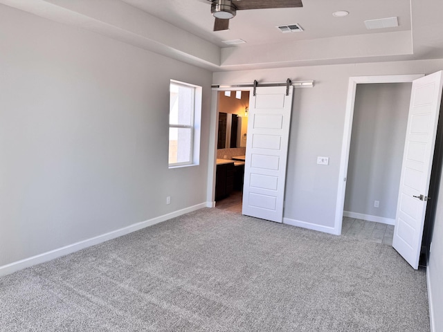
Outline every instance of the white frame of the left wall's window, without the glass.
[[(181, 82), (177, 80), (170, 80), (170, 97), (171, 97), (171, 86), (183, 86), (186, 88), (192, 88), (192, 105), (191, 105), (191, 119), (190, 124), (171, 124), (169, 117), (169, 132), (168, 132), (168, 142), (170, 142), (170, 129), (190, 129), (190, 151), (189, 160), (181, 163), (170, 163), (170, 145), (168, 145), (168, 167), (187, 167), (193, 165), (199, 165), (199, 154), (200, 154), (200, 121), (201, 121), (201, 86), (195, 84), (190, 84), (186, 82)], [(171, 104), (169, 108), (169, 115), (171, 112)], [(170, 143), (169, 143), (170, 144)]]

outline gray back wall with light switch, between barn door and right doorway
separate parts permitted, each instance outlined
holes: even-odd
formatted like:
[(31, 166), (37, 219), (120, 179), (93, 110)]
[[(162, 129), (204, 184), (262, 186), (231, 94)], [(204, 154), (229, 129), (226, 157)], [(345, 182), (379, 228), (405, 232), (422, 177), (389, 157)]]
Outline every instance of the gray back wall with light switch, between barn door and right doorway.
[[(338, 64), (214, 73), (213, 84), (314, 80), (295, 89), (289, 138), (284, 217), (333, 228), (349, 78), (363, 75), (433, 73), (443, 59), (412, 62)], [(317, 156), (329, 165), (317, 165)]]

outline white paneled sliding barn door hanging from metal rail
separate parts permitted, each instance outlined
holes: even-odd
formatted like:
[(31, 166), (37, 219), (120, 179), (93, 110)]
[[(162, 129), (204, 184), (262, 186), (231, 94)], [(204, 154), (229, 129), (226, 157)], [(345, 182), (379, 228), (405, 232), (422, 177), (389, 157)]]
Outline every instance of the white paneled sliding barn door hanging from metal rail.
[(242, 213), (283, 221), (293, 87), (257, 87), (249, 98)]

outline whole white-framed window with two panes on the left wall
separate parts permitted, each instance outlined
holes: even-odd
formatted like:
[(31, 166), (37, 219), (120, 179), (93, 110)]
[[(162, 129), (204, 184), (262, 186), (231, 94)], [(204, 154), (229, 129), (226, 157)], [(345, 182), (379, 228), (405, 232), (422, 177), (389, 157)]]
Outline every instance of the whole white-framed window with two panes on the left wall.
[(171, 80), (169, 167), (199, 164), (200, 120), (201, 86)]

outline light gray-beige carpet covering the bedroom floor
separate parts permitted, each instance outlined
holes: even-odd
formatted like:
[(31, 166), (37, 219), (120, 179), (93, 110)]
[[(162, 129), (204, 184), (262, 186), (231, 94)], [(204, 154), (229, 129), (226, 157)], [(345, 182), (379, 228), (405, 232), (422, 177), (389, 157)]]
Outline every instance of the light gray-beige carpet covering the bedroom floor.
[(0, 278), (0, 331), (429, 331), (391, 247), (203, 209)]

